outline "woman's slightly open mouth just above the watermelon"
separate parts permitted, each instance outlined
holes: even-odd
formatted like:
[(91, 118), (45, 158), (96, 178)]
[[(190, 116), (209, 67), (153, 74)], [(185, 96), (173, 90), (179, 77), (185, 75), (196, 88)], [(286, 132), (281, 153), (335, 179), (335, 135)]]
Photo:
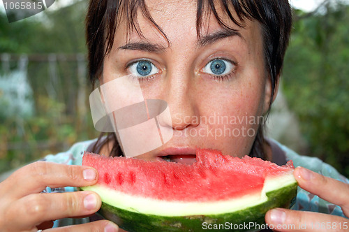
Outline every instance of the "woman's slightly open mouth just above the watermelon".
[(180, 164), (195, 163), (195, 148), (193, 147), (168, 147), (158, 154), (158, 158)]

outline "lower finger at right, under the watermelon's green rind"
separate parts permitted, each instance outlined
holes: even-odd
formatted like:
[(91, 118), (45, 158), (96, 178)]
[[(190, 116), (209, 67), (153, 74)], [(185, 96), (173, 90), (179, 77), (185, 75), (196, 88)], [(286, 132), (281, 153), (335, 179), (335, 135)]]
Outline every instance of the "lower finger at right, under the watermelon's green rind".
[(344, 217), (276, 208), (265, 215), (265, 222), (275, 231), (348, 231)]

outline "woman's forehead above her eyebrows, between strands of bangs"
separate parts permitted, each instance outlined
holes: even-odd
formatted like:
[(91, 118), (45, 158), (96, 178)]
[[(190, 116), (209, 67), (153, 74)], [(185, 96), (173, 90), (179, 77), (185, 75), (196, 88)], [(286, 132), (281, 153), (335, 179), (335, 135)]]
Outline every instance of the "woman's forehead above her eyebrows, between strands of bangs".
[[(255, 33), (260, 34), (259, 23), (250, 20), (242, 22), (232, 10), (233, 17), (239, 23), (244, 24), (244, 27), (239, 27), (232, 22), (225, 11), (216, 6), (216, 11), (223, 22), (230, 29), (223, 28), (216, 17), (210, 12), (203, 12), (202, 22), (200, 25), (200, 36), (198, 36), (197, 24), (197, 2), (196, 1), (145, 1), (147, 11), (151, 15), (154, 22), (164, 32), (165, 36), (147, 17), (144, 17), (142, 10), (139, 8), (135, 24), (129, 27), (127, 18), (124, 17), (118, 25), (114, 37), (113, 47), (120, 46), (130, 42), (152, 41), (156, 42), (161, 47), (166, 48), (174, 43), (182, 43), (182, 41), (191, 40), (195, 43), (200, 43), (202, 40), (198, 37), (208, 38), (210, 35), (219, 34), (222, 31), (225, 34), (237, 34), (245, 41), (248, 38), (255, 38)], [(217, 4), (218, 5), (218, 4)], [(232, 30), (231, 30), (232, 29)], [(229, 32), (230, 31), (230, 32)], [(221, 33), (224, 36), (224, 33)], [(258, 36), (258, 35), (257, 35)], [(168, 40), (167, 40), (168, 39)]]

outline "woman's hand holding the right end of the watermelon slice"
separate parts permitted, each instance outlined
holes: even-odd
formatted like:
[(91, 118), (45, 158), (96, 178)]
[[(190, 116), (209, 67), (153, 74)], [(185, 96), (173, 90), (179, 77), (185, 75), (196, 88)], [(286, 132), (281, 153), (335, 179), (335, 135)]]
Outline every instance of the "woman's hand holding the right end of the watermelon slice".
[[(294, 171), (299, 187), (320, 198), (341, 206), (349, 216), (349, 184), (325, 177), (306, 168)], [(348, 231), (349, 220), (344, 217), (318, 212), (273, 209), (265, 215), (265, 221), (277, 231)], [(279, 227), (278, 227), (279, 225)], [(283, 227), (283, 229), (282, 229)], [(280, 229), (280, 230), (279, 230)]]

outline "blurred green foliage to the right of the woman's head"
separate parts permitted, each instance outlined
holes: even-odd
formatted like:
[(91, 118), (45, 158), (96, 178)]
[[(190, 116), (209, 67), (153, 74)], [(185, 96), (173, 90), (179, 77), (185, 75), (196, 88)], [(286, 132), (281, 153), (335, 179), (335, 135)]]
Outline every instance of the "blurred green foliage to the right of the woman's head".
[(299, 119), (308, 155), (349, 176), (349, 7), (295, 11), (283, 89)]

